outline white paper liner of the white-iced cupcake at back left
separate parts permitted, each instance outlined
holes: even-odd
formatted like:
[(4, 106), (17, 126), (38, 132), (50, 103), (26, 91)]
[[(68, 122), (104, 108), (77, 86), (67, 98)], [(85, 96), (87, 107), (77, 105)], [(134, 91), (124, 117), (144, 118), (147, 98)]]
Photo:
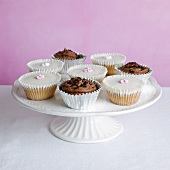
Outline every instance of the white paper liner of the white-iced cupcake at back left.
[[(36, 68), (36, 67), (33, 67), (32, 64), (36, 64), (36, 63), (50, 63), (50, 62), (54, 62), (56, 63), (56, 67), (55, 68), (50, 68), (49, 67), (42, 67), (42, 68)], [(39, 59), (39, 60), (33, 60), (33, 61), (30, 61), (27, 63), (27, 67), (29, 68), (29, 71), (32, 72), (32, 71), (48, 71), (48, 72), (51, 72), (51, 73), (58, 73), (62, 70), (64, 66), (64, 63), (60, 60), (54, 60), (54, 59)]]

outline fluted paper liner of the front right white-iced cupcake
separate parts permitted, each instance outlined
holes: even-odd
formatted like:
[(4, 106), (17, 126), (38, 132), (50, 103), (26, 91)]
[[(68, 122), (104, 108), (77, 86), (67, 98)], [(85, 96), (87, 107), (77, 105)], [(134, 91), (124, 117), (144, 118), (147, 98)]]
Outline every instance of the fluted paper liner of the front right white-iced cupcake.
[[(111, 77), (112, 76), (108, 76), (105, 79), (109, 79)], [(126, 76), (122, 75), (122, 77), (125, 78)], [(127, 76), (127, 77), (130, 77), (130, 76)], [(120, 75), (120, 78), (121, 78), (121, 75)], [(108, 97), (112, 103), (116, 105), (121, 105), (121, 106), (128, 106), (128, 105), (135, 104), (139, 100), (139, 97), (140, 97), (140, 94), (142, 92), (143, 85), (144, 85), (142, 81), (141, 81), (141, 85), (136, 86), (135, 88), (120, 89), (120, 88), (115, 88), (113, 86), (110, 86), (109, 84), (105, 82), (105, 79), (103, 81), (103, 84), (105, 86)], [(134, 79), (137, 79), (137, 78), (134, 78)]]

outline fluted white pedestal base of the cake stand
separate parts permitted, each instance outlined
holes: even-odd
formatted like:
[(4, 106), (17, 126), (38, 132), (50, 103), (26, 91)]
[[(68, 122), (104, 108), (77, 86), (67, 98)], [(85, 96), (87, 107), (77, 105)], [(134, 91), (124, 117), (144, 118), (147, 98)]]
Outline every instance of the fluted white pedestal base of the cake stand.
[(123, 131), (123, 125), (107, 116), (57, 117), (50, 131), (68, 142), (98, 143), (116, 138)]

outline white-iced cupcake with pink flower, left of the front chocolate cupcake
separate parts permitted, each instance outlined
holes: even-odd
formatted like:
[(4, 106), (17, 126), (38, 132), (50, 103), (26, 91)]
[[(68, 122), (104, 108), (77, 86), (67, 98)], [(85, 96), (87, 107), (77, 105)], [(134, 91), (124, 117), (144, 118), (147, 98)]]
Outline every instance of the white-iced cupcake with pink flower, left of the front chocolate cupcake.
[(54, 95), (61, 76), (58, 73), (36, 71), (22, 75), (18, 81), (30, 100), (46, 100)]

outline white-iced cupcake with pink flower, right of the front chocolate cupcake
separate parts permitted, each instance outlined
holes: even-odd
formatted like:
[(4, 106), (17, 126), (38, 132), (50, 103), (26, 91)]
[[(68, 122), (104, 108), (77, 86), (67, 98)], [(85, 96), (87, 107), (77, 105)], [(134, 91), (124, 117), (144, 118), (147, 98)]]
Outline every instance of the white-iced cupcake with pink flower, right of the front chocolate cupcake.
[(144, 86), (141, 80), (126, 75), (108, 76), (103, 84), (110, 101), (121, 106), (135, 104)]

